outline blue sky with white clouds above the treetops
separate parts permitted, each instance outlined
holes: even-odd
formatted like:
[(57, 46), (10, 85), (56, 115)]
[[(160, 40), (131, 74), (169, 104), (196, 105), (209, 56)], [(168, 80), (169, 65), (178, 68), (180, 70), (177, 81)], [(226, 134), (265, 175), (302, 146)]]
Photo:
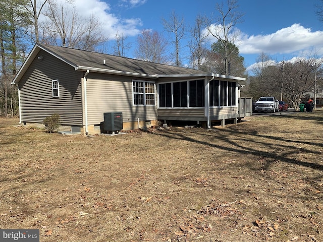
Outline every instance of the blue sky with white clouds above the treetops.
[[(60, 0), (63, 1), (63, 0)], [(163, 34), (161, 19), (168, 19), (171, 11), (183, 17), (187, 26), (194, 24), (198, 14), (217, 14), (214, 0), (75, 0), (82, 15), (94, 13), (103, 23), (111, 44), (117, 32), (127, 36), (135, 47), (138, 34), (151, 29)], [(275, 61), (288, 61), (295, 56), (323, 54), (323, 23), (315, 14), (315, 5), (321, 0), (239, 0), (239, 11), (244, 22), (236, 27), (240, 40), (235, 44), (245, 58), (245, 66), (255, 63), (261, 53), (269, 54)], [(214, 23), (216, 24), (216, 23)], [(210, 40), (215, 42), (215, 40)], [(187, 39), (181, 45), (184, 63), (188, 63)], [(133, 49), (127, 52), (134, 57)]]

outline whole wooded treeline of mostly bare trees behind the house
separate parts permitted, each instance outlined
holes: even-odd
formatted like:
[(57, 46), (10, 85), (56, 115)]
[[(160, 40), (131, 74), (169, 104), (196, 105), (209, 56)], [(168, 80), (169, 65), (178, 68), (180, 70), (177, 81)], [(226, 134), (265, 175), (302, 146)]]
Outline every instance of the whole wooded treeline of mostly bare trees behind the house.
[[(11, 81), (36, 42), (84, 50), (130, 56), (149, 62), (198, 69), (223, 75), (245, 77), (243, 96), (258, 98), (275, 95), (298, 106), (301, 98), (319, 89), (321, 62), (317, 56), (303, 56), (293, 62), (275, 63), (261, 53), (252, 75), (246, 74), (244, 58), (235, 41), (237, 25), (243, 22), (237, 0), (216, 4), (210, 17), (197, 15), (193, 26), (174, 11), (161, 19), (165, 32), (143, 29), (135, 46), (124, 33), (105, 36), (102, 23), (91, 15), (80, 16), (73, 0), (65, 4), (56, 0), (2, 0), (0, 2), (0, 115), (19, 115), (17, 87)], [(184, 39), (189, 39), (189, 53), (184, 52)], [(210, 39), (214, 41), (210, 42)], [(187, 42), (187, 41), (186, 41)], [(110, 43), (113, 43), (110, 48)], [(170, 51), (171, 50), (171, 51)]]

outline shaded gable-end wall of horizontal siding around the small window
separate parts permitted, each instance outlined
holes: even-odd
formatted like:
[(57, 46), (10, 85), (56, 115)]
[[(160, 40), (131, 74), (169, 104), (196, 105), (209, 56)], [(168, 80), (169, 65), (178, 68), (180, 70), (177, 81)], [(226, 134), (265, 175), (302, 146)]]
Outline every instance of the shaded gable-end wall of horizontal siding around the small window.
[[(82, 126), (82, 72), (40, 51), (19, 82), (22, 122), (42, 123), (58, 113), (62, 125)], [(52, 97), (52, 80), (59, 80), (60, 97)]]

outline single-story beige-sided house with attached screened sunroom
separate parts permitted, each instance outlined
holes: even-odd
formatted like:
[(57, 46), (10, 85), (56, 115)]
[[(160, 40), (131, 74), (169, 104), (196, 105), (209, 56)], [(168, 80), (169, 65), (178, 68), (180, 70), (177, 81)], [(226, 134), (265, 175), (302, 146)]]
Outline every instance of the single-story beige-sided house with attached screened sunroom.
[[(36, 44), (12, 81), (19, 90), (20, 122), (43, 127), (60, 114), (60, 132), (98, 134), (104, 113), (121, 113), (122, 130), (191, 120), (239, 118), (244, 78), (126, 57)], [(251, 106), (251, 103), (250, 103)], [(120, 115), (118, 116), (120, 117)]]

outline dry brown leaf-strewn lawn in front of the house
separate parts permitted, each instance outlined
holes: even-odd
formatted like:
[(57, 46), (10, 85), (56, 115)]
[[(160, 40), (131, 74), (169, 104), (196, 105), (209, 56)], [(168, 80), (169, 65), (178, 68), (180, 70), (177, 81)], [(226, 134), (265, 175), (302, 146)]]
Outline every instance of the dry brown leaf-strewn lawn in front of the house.
[(0, 228), (40, 241), (323, 241), (323, 111), (83, 137), (0, 119)]

